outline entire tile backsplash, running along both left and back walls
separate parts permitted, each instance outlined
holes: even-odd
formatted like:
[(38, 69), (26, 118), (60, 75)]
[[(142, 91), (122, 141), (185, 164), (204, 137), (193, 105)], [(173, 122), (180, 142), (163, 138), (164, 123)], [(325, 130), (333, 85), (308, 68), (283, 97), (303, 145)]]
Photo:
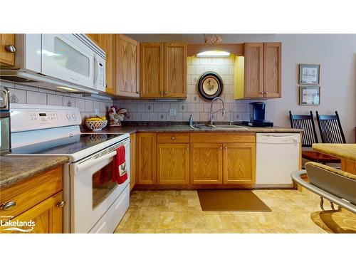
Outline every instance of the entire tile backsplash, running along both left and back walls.
[[(61, 105), (76, 107), (82, 120), (95, 114), (106, 115), (110, 106), (115, 103), (118, 108), (125, 108), (130, 113), (130, 121), (188, 121), (192, 115), (194, 121), (208, 121), (210, 101), (199, 97), (197, 81), (201, 73), (207, 70), (219, 73), (224, 83), (221, 98), (224, 99), (226, 115), (216, 113), (216, 121), (248, 120), (248, 100), (234, 100), (234, 56), (229, 58), (187, 57), (187, 99), (186, 100), (96, 100), (84, 98), (80, 94), (62, 93), (18, 83), (0, 80), (0, 84), (10, 90), (10, 102), (37, 105)], [(221, 108), (221, 103), (214, 103), (213, 110)], [(169, 115), (169, 110), (176, 110), (176, 115)]]

